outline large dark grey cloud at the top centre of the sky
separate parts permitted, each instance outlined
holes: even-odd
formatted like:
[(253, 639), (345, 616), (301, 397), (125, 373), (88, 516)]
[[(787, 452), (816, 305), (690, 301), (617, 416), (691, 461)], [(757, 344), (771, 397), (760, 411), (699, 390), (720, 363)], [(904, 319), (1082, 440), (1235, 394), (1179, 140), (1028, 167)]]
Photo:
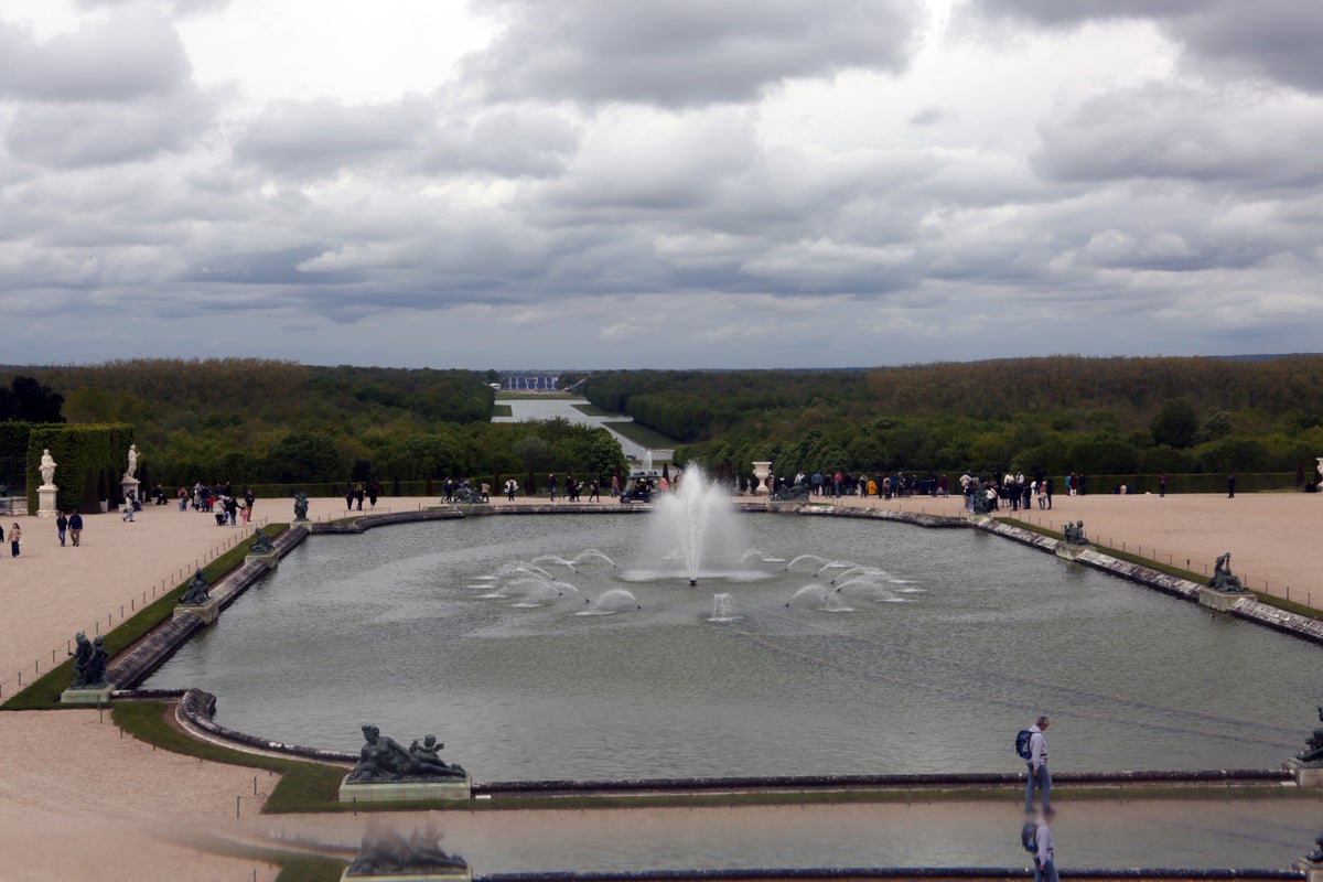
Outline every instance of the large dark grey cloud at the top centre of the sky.
[(910, 0), (504, 0), (507, 26), (466, 75), (496, 99), (749, 102), (796, 77), (900, 70), (919, 21)]

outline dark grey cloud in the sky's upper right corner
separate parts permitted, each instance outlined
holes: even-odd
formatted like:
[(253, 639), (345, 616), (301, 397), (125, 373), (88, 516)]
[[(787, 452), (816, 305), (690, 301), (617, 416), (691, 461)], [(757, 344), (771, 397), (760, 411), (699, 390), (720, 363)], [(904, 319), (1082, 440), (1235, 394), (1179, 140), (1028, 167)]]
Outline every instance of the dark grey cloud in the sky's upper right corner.
[(1046, 26), (1151, 20), (1204, 67), (1323, 90), (1323, 12), (1314, 0), (975, 0), (971, 8)]

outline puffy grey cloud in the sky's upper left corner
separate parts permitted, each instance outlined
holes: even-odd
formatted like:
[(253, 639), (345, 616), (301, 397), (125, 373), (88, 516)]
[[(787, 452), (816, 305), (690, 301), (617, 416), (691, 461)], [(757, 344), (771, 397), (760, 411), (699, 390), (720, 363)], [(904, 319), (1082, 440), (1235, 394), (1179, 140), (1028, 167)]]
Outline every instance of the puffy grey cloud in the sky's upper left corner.
[(112, 16), (46, 42), (0, 21), (4, 95), (44, 102), (134, 100), (172, 94), (188, 78), (179, 34), (159, 16)]

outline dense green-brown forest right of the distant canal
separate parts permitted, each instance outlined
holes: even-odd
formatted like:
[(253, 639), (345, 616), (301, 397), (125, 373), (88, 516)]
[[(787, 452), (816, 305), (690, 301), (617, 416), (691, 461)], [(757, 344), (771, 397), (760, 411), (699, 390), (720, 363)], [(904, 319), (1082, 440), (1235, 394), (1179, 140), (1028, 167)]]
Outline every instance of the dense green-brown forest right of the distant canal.
[(1052, 356), (857, 370), (593, 374), (585, 394), (744, 473), (1291, 472), (1323, 455), (1323, 356)]

